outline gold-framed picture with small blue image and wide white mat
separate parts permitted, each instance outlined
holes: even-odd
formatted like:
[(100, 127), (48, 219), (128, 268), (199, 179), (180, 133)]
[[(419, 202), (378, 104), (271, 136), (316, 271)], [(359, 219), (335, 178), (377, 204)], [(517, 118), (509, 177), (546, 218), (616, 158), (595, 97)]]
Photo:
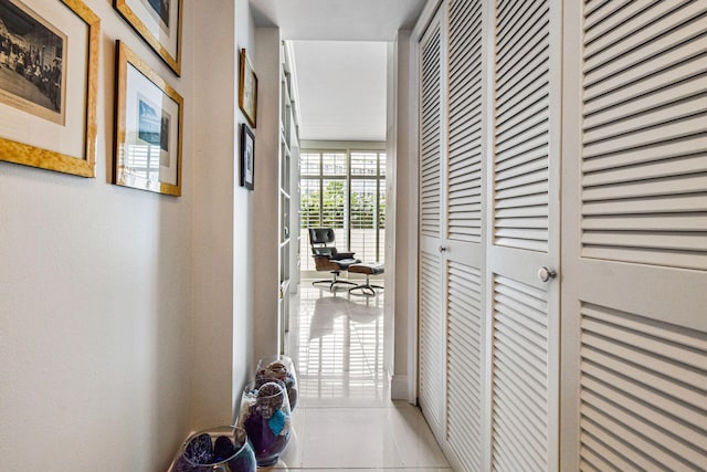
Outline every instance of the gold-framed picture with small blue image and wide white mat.
[(116, 43), (113, 183), (181, 195), (183, 99), (124, 43)]

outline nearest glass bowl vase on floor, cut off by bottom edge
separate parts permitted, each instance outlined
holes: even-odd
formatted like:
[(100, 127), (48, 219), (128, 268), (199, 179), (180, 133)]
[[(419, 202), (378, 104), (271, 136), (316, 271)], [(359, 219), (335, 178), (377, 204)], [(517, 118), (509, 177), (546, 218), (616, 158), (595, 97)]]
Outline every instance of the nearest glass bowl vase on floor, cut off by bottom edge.
[(245, 430), (215, 427), (191, 434), (172, 462), (170, 472), (255, 472), (257, 462)]

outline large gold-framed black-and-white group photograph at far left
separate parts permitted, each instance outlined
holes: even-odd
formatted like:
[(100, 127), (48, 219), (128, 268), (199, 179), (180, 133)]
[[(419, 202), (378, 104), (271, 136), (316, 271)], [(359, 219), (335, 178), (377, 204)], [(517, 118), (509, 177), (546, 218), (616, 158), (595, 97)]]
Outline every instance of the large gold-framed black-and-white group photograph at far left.
[(95, 177), (99, 39), (81, 0), (0, 0), (0, 160)]

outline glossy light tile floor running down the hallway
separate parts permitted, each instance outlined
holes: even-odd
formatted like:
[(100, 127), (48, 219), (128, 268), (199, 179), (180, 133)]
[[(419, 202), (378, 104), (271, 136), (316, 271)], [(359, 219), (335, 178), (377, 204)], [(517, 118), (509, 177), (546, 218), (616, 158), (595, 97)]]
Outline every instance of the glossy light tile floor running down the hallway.
[(416, 407), (391, 401), (383, 371), (383, 297), (329, 292), (303, 281), (291, 308), (297, 366), (289, 471), (450, 471)]

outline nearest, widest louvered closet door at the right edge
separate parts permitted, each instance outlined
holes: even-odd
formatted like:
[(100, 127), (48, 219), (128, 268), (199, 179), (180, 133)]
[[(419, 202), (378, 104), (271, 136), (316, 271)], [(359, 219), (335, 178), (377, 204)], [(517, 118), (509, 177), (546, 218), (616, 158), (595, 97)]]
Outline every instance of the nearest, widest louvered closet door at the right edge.
[(707, 2), (566, 21), (562, 468), (704, 471)]

